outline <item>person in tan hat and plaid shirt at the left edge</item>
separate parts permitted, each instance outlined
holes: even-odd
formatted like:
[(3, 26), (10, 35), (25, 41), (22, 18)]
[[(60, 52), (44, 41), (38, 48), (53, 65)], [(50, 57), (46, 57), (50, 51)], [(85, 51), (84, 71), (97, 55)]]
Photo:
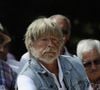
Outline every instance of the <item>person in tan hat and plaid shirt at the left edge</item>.
[(11, 42), (11, 38), (3, 32), (0, 24), (0, 90), (14, 90), (17, 76), (6, 62), (9, 42)]

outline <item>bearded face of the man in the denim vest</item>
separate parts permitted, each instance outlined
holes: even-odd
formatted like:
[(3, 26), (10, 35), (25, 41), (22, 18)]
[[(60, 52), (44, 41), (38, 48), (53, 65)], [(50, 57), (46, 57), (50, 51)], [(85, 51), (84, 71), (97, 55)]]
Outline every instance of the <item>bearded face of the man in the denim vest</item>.
[(52, 63), (60, 54), (61, 43), (57, 37), (44, 35), (33, 42), (31, 53), (44, 63)]

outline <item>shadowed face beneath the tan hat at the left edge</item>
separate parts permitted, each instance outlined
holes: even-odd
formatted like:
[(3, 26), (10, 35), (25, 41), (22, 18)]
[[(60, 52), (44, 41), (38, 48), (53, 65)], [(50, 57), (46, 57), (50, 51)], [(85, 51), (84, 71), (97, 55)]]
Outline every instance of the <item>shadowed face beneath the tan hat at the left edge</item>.
[(8, 44), (1, 45), (0, 44), (0, 59), (6, 60), (8, 53)]

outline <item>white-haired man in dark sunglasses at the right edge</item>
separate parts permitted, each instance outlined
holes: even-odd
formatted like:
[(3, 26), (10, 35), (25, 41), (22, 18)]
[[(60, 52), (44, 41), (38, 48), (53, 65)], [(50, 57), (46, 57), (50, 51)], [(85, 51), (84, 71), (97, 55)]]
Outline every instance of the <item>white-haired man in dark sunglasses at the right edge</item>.
[(82, 60), (94, 90), (100, 90), (100, 41), (95, 39), (79, 41), (77, 56)]

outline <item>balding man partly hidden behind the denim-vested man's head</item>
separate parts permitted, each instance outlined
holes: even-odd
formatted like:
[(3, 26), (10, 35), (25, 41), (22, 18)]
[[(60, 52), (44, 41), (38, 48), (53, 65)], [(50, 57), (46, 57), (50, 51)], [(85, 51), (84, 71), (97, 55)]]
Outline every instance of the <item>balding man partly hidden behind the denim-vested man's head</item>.
[(64, 46), (61, 50), (61, 55), (72, 55), (68, 52), (68, 49), (66, 47), (71, 35), (71, 22), (69, 18), (61, 14), (55, 14), (50, 16), (49, 18), (56, 22), (57, 25), (61, 28), (61, 31), (63, 32)]

